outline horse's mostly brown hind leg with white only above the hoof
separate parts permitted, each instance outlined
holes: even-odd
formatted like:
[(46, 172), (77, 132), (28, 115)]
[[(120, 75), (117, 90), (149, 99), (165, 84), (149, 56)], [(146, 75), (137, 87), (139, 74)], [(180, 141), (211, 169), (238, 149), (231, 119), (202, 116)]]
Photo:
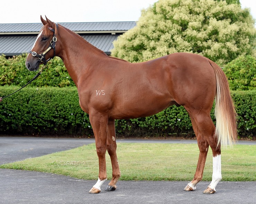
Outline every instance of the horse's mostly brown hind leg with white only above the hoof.
[(194, 118), (191, 117), (191, 115), (190, 115), (190, 118), (191, 118), (193, 130), (195, 132), (195, 136), (198, 142), (200, 153), (199, 153), (198, 164), (196, 167), (194, 178), (184, 188), (184, 191), (194, 191), (196, 189), (196, 184), (198, 184), (202, 180), (203, 170), (204, 170), (205, 161), (206, 161), (208, 148), (209, 148), (209, 144), (207, 140), (204, 138), (204, 136), (202, 135), (201, 131), (198, 129), (198, 126), (196, 125)]

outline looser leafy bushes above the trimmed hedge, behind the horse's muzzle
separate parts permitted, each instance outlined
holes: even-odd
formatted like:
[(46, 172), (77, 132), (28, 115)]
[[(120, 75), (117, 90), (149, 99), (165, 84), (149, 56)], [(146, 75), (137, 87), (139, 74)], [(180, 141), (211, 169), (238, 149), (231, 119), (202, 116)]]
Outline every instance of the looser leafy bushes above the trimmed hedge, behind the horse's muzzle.
[[(0, 55), (0, 86), (23, 86), (30, 81), (37, 72), (30, 72), (25, 66), (27, 55), (18, 55), (6, 59)], [(42, 66), (42, 65), (41, 65)], [(33, 81), (29, 86), (75, 86), (68, 74), (61, 58), (54, 57), (43, 69), (41, 77)]]

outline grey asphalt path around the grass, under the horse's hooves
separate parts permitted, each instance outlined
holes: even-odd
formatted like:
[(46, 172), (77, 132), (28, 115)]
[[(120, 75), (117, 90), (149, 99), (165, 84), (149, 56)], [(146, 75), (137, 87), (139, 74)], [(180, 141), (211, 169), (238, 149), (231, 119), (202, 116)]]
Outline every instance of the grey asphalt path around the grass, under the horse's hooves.
[[(196, 143), (196, 140), (127, 140), (117, 142)], [(0, 137), (0, 164), (38, 157), (94, 143), (90, 138)], [(239, 141), (256, 145), (256, 141)], [(256, 148), (256, 146), (255, 146)], [(98, 161), (95, 161), (98, 163)], [(80, 203), (254, 203), (256, 182), (220, 182), (213, 195), (203, 194), (209, 182), (200, 182), (193, 192), (183, 188), (189, 181), (118, 181), (113, 192), (89, 194), (96, 180), (36, 171), (0, 169), (0, 203), (3, 204), (80, 204)]]

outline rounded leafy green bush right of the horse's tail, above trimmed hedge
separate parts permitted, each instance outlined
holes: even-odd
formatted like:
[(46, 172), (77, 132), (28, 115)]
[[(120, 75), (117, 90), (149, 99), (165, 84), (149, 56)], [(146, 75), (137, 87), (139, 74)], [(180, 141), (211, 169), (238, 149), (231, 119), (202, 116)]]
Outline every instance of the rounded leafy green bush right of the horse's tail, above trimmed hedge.
[(256, 89), (256, 58), (247, 55), (228, 63), (223, 70), (231, 90)]

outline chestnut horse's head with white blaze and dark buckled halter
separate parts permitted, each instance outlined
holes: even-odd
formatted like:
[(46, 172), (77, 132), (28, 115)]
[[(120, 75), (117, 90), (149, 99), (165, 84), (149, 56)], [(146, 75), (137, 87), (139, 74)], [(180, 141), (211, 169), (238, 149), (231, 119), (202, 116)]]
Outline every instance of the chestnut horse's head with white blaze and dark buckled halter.
[(41, 21), (44, 26), (26, 59), (26, 67), (29, 71), (37, 70), (40, 64), (46, 65), (56, 55), (55, 44), (57, 42), (58, 25), (47, 17), (44, 20), (41, 16)]

